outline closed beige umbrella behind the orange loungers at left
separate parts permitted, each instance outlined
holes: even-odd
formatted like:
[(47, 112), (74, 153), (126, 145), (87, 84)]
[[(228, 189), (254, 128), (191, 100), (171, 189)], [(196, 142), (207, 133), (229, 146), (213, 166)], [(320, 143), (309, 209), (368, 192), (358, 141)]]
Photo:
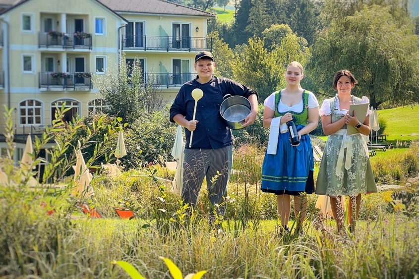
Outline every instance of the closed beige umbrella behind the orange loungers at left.
[(83, 154), (81, 150), (77, 151), (77, 161), (76, 167), (74, 170), (74, 191), (73, 196), (77, 195), (86, 195), (88, 197), (94, 196), (95, 192), (93, 191), (92, 186), (90, 186), (90, 181), (93, 176), (89, 172), (89, 169), (86, 167), (84, 162)]

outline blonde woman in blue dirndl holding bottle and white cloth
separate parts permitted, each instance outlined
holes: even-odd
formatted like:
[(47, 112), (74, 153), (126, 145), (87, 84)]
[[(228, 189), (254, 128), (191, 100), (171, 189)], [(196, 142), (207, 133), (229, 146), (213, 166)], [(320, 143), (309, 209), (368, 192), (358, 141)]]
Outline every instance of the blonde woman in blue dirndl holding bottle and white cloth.
[[(297, 230), (301, 233), (307, 202), (301, 193), (314, 192), (313, 149), (308, 133), (318, 124), (319, 104), (313, 93), (300, 87), (303, 69), (299, 62), (291, 62), (285, 71), (287, 87), (266, 98), (263, 126), (270, 128), (268, 148), (262, 166), (261, 190), (277, 195), (278, 214), (283, 230), (289, 231), (291, 196), (294, 213), (299, 216)], [(300, 143), (292, 146), (287, 122), (294, 121)]]

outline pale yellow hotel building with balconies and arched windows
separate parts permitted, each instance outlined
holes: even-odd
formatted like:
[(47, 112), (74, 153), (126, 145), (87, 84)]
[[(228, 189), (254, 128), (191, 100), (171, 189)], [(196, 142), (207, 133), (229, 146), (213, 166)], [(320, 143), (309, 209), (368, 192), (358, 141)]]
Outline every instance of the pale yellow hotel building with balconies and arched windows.
[[(57, 105), (86, 116), (104, 106), (93, 75), (140, 59), (164, 98), (194, 78), (196, 52), (212, 50), (215, 15), (165, 0), (0, 0), (0, 148), (4, 105), (13, 108), (16, 152), (51, 125)], [(114, 67), (115, 68), (115, 67)]]

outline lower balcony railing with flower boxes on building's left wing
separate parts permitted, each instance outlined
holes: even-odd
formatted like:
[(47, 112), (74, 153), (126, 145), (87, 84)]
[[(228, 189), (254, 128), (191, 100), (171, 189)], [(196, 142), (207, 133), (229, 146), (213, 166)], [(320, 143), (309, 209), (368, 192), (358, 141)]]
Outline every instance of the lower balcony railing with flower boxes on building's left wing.
[(93, 88), (91, 77), (77, 77), (77, 73), (66, 73), (65, 77), (53, 77), (51, 72), (39, 73), (39, 88), (60, 88), (62, 89), (76, 89), (88, 87), (88, 90)]

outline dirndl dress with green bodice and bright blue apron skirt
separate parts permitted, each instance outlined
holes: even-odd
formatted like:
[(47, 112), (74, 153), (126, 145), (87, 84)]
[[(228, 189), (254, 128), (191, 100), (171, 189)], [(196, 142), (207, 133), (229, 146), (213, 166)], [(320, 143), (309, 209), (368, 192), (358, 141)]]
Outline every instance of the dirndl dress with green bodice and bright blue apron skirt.
[[(287, 112), (278, 112), (281, 93), (276, 94), (275, 116), (282, 116)], [(279, 96), (278, 96), (279, 95)], [(297, 130), (302, 129), (308, 122), (308, 93), (303, 93), (303, 110), (294, 113), (293, 121)], [(314, 160), (313, 147), (308, 134), (302, 135), (299, 146), (292, 146), (289, 133), (280, 133), (275, 155), (267, 154), (262, 165), (262, 192), (276, 195), (298, 196), (301, 192), (314, 192)]]

